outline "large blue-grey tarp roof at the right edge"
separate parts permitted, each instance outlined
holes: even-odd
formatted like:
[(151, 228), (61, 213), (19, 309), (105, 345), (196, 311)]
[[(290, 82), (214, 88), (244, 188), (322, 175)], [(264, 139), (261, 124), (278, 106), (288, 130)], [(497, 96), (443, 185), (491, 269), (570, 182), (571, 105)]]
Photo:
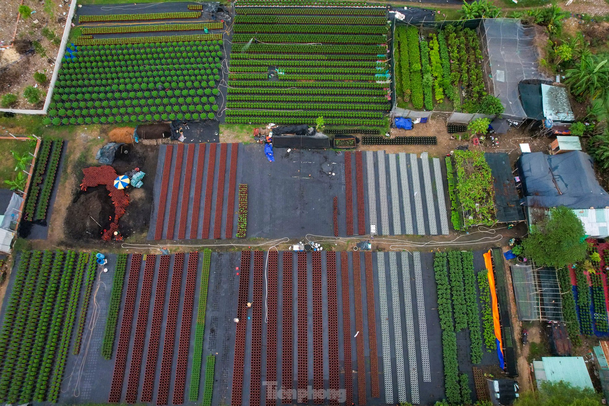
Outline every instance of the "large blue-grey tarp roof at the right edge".
[(593, 160), (585, 152), (558, 155), (532, 152), (520, 155), (517, 165), (527, 206), (576, 209), (609, 206), (609, 194), (600, 186)]

